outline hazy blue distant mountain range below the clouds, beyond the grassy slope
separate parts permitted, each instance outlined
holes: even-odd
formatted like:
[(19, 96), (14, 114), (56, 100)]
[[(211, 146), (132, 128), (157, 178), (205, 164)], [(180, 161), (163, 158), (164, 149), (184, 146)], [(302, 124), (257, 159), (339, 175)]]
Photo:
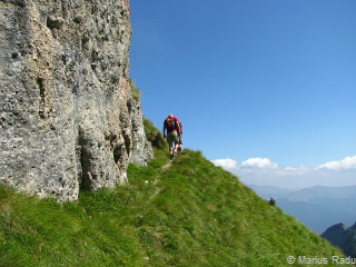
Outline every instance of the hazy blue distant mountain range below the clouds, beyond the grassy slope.
[(356, 186), (316, 186), (289, 192), (276, 187), (250, 188), (265, 199), (276, 199), (277, 207), (318, 234), (330, 225), (339, 221), (352, 225), (356, 219)]

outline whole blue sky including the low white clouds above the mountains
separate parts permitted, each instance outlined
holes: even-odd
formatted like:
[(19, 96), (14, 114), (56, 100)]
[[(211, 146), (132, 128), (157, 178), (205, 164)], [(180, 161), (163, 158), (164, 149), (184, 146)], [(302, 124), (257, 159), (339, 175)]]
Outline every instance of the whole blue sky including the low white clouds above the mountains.
[(355, 0), (130, 0), (144, 116), (248, 185), (356, 185)]

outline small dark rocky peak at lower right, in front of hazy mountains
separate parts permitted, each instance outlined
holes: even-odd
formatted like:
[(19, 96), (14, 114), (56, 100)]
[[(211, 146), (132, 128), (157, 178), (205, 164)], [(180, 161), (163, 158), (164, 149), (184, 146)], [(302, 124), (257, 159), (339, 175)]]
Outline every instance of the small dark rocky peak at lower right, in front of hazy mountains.
[(340, 248), (346, 256), (356, 257), (356, 222), (349, 228), (342, 222), (336, 224), (327, 228), (322, 237)]

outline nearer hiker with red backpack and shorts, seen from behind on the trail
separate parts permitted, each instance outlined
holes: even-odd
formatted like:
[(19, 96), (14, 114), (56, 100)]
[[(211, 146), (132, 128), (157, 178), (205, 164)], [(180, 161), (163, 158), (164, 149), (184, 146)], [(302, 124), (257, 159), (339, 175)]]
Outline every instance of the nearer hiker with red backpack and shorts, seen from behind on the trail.
[(162, 131), (164, 137), (167, 138), (167, 142), (169, 145), (170, 158), (172, 158), (178, 150), (178, 136), (180, 135), (179, 121), (172, 113), (168, 115), (168, 117), (165, 119)]

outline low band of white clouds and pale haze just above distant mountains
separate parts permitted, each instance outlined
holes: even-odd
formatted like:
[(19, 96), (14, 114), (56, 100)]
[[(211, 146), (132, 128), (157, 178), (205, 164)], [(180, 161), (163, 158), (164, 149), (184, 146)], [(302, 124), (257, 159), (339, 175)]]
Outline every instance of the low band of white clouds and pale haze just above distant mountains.
[(280, 167), (268, 158), (249, 158), (240, 165), (230, 158), (217, 159), (212, 162), (238, 176), (245, 185), (288, 189), (356, 185), (356, 156), (326, 162), (317, 168), (308, 168), (303, 165)]

